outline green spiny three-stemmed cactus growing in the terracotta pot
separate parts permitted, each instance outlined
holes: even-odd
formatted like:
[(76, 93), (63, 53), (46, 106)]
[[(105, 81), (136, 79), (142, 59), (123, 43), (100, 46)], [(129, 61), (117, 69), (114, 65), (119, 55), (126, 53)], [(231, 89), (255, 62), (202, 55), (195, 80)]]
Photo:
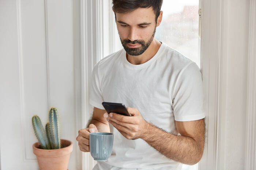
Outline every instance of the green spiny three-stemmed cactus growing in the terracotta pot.
[[(49, 122), (44, 127), (37, 115), (32, 117), (32, 125), (35, 136), (41, 146), (41, 149), (60, 149), (60, 127), (59, 113), (56, 108), (52, 107), (49, 111)], [(45, 133), (46, 131), (46, 133)]]

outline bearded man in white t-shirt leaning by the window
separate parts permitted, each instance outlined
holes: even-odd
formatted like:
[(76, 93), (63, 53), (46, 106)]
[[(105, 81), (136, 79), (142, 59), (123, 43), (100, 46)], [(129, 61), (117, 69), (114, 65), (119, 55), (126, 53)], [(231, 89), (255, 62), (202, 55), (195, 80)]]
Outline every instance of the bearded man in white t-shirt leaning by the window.
[[(124, 49), (93, 68), (89, 127), (76, 138), (89, 152), (90, 132), (114, 134), (112, 155), (94, 170), (181, 169), (202, 158), (203, 85), (199, 67), (154, 39), (162, 0), (113, 0)], [(132, 115), (107, 114), (102, 102), (123, 103)]]

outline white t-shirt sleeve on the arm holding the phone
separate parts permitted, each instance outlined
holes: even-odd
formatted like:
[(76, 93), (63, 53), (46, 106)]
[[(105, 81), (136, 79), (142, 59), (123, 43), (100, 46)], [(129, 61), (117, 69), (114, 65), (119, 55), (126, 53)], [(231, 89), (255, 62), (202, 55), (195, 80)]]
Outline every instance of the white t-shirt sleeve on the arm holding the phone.
[(203, 99), (202, 74), (192, 62), (181, 70), (174, 86), (174, 119), (181, 122), (203, 119)]

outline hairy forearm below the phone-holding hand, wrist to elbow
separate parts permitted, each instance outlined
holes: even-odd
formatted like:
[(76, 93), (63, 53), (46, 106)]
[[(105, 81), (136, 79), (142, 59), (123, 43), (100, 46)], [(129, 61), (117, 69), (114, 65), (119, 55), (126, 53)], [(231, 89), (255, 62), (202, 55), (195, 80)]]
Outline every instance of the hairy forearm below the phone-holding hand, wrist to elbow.
[(193, 138), (167, 133), (149, 122), (147, 125), (147, 132), (142, 139), (160, 153), (174, 161), (188, 165), (199, 162), (202, 149)]

